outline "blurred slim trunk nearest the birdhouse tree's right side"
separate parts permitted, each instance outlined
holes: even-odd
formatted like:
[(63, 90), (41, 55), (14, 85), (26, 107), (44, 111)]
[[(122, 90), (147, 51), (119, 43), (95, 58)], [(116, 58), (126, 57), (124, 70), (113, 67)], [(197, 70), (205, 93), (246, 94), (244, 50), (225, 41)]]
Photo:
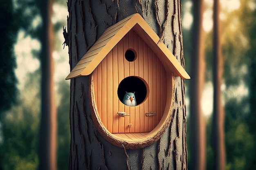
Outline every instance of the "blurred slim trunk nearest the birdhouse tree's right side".
[(193, 0), (193, 28), (191, 53), (191, 86), (190, 86), (190, 147), (191, 169), (204, 170), (206, 166), (205, 122), (201, 108), (201, 97), (204, 88), (204, 30), (202, 28), (203, 0)]

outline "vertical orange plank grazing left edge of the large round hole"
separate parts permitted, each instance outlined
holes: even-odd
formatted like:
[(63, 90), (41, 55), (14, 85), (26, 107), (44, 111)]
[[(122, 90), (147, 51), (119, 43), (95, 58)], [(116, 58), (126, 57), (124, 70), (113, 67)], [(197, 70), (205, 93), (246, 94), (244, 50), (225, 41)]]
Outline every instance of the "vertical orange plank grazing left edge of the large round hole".
[(118, 51), (117, 46), (115, 46), (112, 50), (112, 60), (113, 60), (113, 133), (118, 133), (119, 127), (119, 119), (118, 119), (118, 105), (119, 99), (117, 96), (117, 88), (118, 88), (118, 59), (117, 59)]

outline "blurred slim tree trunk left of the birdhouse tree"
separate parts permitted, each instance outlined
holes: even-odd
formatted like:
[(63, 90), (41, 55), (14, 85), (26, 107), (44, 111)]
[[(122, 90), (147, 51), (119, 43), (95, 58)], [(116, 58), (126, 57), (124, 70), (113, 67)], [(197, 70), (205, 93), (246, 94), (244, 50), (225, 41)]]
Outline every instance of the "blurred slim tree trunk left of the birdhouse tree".
[(40, 11), (43, 19), (41, 34), (41, 124), (39, 144), (39, 170), (56, 170), (56, 106), (54, 95), (54, 61), (52, 58), (53, 25), (52, 0), (43, 1)]

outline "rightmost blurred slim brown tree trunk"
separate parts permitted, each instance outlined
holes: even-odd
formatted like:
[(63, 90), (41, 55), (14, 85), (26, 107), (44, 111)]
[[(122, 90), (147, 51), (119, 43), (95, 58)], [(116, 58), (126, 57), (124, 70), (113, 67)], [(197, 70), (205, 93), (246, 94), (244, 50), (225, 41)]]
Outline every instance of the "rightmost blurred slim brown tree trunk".
[(225, 137), (224, 137), (224, 108), (221, 102), (221, 81), (223, 73), (223, 58), (220, 35), (220, 4), (213, 4), (213, 128), (212, 142), (214, 163), (213, 169), (225, 170)]

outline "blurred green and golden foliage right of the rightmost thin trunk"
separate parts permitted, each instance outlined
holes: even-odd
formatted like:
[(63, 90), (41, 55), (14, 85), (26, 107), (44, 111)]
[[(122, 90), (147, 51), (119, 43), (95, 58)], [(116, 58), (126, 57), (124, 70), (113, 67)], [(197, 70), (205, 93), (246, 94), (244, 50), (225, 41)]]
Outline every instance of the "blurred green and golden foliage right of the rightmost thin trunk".
[[(250, 53), (249, 49), (252, 48), (256, 38), (256, 22), (253, 19), (255, 18), (255, 10), (250, 10), (248, 3), (241, 2), (240, 9), (230, 13), (228, 16), (230, 16), (231, 20), (227, 20), (225, 23), (225, 41), (223, 45), (225, 58), (224, 78), (227, 92), (224, 93), (226, 169), (251, 170), (256, 169), (256, 147), (254, 144), (256, 134), (251, 130), (255, 129), (256, 112), (252, 109), (252, 107), (255, 107), (255, 102), (250, 102), (250, 98), (252, 99), (250, 96), (256, 95), (256, 91), (254, 91), (256, 84), (252, 80), (255, 79), (253, 74), (256, 61), (251, 60), (255, 58), (255, 53)], [(236, 22), (237, 20), (238, 22)], [(236, 29), (232, 27), (234, 24), (236, 24)], [(250, 32), (252, 29), (254, 31)], [(251, 34), (248, 34), (248, 32)], [(255, 45), (253, 49), (255, 49)], [(250, 68), (254, 69), (254, 71), (250, 72)], [(252, 86), (249, 84), (252, 84)], [(248, 89), (248, 94), (245, 89)]]

